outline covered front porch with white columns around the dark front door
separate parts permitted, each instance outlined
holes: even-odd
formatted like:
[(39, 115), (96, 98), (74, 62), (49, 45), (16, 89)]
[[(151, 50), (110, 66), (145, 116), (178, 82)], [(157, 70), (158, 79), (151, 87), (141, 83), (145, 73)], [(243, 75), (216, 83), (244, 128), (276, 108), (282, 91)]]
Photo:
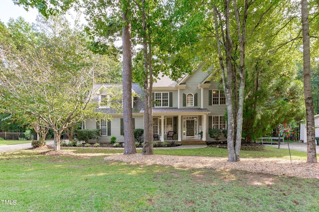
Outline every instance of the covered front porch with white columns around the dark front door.
[(209, 113), (209, 110), (199, 108), (154, 108), (154, 141), (204, 144), (207, 135), (207, 114)]

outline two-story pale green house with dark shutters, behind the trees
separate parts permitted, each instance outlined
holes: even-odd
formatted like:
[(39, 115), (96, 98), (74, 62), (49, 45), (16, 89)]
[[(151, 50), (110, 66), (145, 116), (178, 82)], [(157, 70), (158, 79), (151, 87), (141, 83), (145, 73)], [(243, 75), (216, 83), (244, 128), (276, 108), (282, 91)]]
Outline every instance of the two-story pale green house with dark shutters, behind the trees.
[[(174, 141), (212, 141), (209, 138), (209, 129), (226, 129), (224, 92), (220, 90), (220, 84), (212, 82), (210, 74), (201, 69), (202, 66), (192, 74), (186, 74), (178, 82), (164, 76), (153, 84), (153, 129), (160, 141), (167, 140), (169, 131), (174, 132)], [(109, 98), (107, 90), (112, 86), (120, 87), (121, 84), (96, 84), (95, 100), (101, 102), (103, 98)], [(137, 94), (132, 97), (134, 128), (143, 129), (141, 87), (133, 84), (132, 93)], [(107, 122), (90, 119), (85, 122), (85, 129), (100, 128), (101, 142), (108, 142), (113, 136), (117, 137), (118, 142), (123, 142), (123, 114), (116, 113), (108, 105), (100, 106), (100, 110), (112, 114), (113, 120)]]

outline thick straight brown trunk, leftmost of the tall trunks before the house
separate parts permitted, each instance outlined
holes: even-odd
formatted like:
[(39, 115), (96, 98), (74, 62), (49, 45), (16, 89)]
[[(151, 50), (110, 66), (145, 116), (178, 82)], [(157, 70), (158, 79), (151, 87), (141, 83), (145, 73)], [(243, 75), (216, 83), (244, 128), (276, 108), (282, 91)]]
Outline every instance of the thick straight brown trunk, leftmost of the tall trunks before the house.
[(123, 1), (123, 120), (124, 154), (135, 154), (132, 114), (132, 44), (131, 22), (128, 20), (129, 1)]

